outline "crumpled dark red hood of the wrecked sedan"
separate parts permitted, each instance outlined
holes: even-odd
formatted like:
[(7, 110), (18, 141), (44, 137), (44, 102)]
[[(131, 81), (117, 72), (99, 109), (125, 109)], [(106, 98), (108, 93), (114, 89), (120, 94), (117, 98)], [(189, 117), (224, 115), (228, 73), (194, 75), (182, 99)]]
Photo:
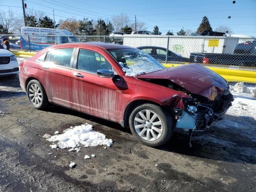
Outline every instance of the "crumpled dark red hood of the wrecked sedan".
[(200, 64), (188, 64), (179, 67), (137, 75), (139, 79), (170, 80), (182, 86), (192, 94), (198, 94), (214, 100), (215, 96), (224, 93), (228, 84), (221, 76)]

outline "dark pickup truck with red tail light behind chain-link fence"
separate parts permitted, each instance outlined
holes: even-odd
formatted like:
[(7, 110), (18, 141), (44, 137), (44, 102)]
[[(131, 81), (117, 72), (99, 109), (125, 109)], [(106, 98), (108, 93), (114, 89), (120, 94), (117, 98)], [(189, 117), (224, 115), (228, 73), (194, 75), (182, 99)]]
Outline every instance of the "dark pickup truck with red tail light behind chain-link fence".
[(255, 48), (256, 42), (253, 41), (238, 44), (234, 50), (234, 54), (191, 53), (190, 62), (255, 67)]

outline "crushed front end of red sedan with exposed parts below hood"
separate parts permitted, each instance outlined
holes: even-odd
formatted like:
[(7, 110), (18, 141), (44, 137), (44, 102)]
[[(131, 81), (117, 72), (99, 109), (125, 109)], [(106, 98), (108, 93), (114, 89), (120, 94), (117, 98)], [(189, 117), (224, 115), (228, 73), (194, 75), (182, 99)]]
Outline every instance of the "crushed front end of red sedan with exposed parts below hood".
[(196, 94), (182, 98), (184, 108), (174, 108), (175, 131), (205, 130), (210, 127), (214, 120), (218, 120), (226, 113), (233, 100), (233, 95), (228, 89), (221, 94), (217, 94), (214, 100)]

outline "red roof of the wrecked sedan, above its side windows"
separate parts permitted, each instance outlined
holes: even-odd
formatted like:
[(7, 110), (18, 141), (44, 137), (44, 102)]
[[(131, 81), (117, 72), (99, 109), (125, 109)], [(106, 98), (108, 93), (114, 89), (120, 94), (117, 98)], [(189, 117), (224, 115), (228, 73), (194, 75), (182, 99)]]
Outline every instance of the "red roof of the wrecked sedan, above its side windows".
[(120, 44), (112, 44), (112, 43), (104, 43), (104, 42), (81, 42), (81, 43), (65, 43), (65, 44), (58, 44), (58, 45), (54, 45), (52, 46), (52, 48), (57, 48), (57, 47), (62, 47), (62, 46), (95, 46), (98, 48), (103, 48), (103, 49), (136, 49), (134, 47), (129, 47), (129, 46), (124, 46), (124, 45), (120, 45)]

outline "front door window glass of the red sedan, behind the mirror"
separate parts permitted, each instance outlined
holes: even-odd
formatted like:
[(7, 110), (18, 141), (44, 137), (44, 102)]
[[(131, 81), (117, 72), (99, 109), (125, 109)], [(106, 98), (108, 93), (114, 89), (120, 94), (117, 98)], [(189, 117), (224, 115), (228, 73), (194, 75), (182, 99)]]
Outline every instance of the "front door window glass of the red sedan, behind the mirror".
[(99, 69), (113, 70), (111, 64), (97, 52), (80, 49), (77, 60), (77, 69), (97, 74)]

